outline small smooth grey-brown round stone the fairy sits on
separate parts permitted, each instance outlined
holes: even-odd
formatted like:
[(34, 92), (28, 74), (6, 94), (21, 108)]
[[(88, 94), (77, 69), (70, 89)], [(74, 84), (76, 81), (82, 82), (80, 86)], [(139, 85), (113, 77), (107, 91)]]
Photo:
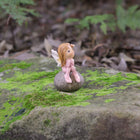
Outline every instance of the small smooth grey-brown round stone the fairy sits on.
[(64, 73), (61, 71), (59, 72), (54, 79), (54, 85), (55, 87), (60, 91), (76, 91), (82, 87), (84, 84), (84, 78), (83, 76), (78, 72), (78, 75), (80, 76), (80, 82), (76, 82), (73, 74), (70, 74), (70, 77), (72, 79), (72, 83), (66, 83), (64, 78)]

